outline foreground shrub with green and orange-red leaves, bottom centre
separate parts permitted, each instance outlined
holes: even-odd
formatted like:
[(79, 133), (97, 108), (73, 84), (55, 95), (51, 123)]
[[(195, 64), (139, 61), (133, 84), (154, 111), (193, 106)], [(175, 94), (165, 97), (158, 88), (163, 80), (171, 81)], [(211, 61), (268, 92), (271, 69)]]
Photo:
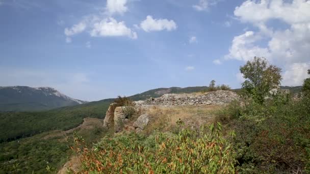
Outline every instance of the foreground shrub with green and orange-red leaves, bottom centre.
[(103, 138), (91, 150), (75, 137), (73, 149), (82, 173), (234, 173), (235, 153), (220, 132), (218, 123), (175, 134), (122, 134)]

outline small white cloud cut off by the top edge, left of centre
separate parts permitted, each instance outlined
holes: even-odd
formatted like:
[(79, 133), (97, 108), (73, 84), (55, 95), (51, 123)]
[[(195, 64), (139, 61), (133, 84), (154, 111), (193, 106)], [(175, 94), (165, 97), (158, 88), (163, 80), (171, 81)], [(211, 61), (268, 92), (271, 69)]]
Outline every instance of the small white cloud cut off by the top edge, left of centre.
[(107, 0), (107, 12), (109, 14), (125, 13), (128, 8), (126, 7), (127, 0)]

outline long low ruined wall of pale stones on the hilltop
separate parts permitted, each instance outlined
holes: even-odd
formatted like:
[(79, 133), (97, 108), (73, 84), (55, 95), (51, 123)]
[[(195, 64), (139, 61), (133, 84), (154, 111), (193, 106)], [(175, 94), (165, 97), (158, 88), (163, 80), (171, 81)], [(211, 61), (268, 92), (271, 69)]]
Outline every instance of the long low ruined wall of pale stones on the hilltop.
[[(239, 96), (231, 91), (215, 91), (202, 95), (197, 94), (165, 94), (160, 98), (150, 98), (143, 102), (143, 105), (165, 105), (165, 106), (185, 106), (185, 105), (223, 105), (234, 100), (239, 100)], [(141, 101), (139, 104), (141, 105)]]

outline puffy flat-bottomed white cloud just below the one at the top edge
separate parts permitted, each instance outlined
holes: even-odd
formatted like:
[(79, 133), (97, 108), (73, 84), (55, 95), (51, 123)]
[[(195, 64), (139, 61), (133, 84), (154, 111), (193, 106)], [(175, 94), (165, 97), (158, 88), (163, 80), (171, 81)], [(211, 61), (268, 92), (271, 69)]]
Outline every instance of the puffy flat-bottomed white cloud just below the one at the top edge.
[(137, 33), (128, 28), (124, 21), (118, 22), (112, 17), (94, 23), (90, 35), (92, 37), (127, 36), (132, 39), (138, 38)]

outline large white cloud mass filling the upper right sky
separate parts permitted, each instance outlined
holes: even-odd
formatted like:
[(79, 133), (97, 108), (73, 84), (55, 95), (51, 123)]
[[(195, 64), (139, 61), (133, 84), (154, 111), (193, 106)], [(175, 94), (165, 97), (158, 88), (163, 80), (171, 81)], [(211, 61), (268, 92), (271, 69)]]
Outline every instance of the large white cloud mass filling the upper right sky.
[[(225, 60), (248, 61), (253, 56), (265, 56), (273, 64), (283, 67), (283, 85), (301, 85), (310, 68), (309, 9), (310, 1), (305, 0), (245, 1), (234, 14), (241, 22), (251, 23), (259, 31), (236, 36)], [(275, 28), (271, 25), (274, 22), (268, 23), (270, 20), (285, 22), (288, 27)]]

